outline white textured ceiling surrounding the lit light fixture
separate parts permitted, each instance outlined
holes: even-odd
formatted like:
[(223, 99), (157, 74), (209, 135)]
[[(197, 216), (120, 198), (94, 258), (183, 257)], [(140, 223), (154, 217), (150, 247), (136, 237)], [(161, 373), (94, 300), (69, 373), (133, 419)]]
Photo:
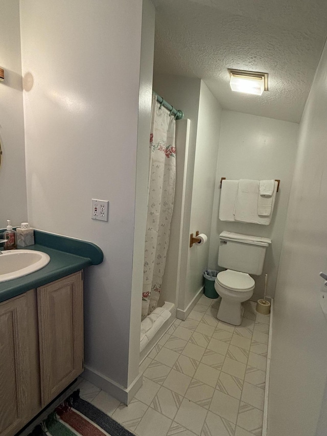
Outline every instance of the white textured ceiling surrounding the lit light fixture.
[[(326, 0), (152, 1), (156, 72), (203, 79), (224, 109), (300, 121), (327, 36)], [(227, 68), (268, 73), (269, 90), (233, 93)]]

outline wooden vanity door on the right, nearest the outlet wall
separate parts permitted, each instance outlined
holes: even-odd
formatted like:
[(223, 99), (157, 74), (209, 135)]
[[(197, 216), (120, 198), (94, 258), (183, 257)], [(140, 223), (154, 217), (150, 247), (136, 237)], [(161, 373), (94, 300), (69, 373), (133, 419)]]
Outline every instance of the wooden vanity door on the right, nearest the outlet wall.
[(42, 407), (83, 371), (82, 271), (37, 288)]

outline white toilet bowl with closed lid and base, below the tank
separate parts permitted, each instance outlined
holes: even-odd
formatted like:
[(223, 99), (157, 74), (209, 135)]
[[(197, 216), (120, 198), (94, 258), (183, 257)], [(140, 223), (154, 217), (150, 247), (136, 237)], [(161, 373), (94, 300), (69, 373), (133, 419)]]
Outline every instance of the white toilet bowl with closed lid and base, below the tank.
[(253, 295), (252, 277), (244, 272), (226, 269), (217, 275), (215, 289), (221, 296), (217, 318), (224, 323), (240, 326), (244, 312), (242, 303)]

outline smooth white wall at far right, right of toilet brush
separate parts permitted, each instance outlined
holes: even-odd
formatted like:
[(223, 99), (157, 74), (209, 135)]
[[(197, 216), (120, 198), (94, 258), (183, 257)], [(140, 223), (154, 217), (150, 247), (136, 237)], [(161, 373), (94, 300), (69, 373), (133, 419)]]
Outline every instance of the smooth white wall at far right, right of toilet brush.
[[(327, 375), (327, 322), (318, 303), (327, 270), (327, 47), (303, 111), (275, 294), (269, 436), (313, 436)], [(322, 411), (317, 434), (322, 428)]]

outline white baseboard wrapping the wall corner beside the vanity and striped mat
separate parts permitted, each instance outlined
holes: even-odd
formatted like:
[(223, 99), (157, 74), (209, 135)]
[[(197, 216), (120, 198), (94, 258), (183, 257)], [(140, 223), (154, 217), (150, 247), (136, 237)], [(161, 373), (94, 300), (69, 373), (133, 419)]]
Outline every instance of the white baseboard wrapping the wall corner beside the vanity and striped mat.
[(126, 405), (131, 402), (134, 395), (143, 383), (142, 374), (138, 374), (138, 376), (128, 387), (124, 387), (121, 384), (111, 380), (109, 377), (100, 374), (98, 371), (89, 368), (87, 365), (84, 365), (83, 378)]

